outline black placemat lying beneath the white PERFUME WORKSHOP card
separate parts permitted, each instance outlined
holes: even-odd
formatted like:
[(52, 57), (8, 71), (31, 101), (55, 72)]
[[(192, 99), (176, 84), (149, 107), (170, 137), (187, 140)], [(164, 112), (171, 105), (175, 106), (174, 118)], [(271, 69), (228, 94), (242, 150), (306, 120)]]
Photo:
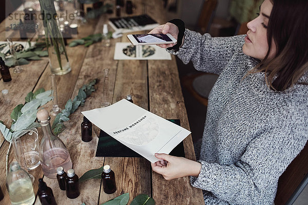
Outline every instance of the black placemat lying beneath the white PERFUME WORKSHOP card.
[[(168, 119), (168, 120), (180, 126), (179, 119)], [(172, 156), (185, 157), (183, 141), (181, 141), (181, 143), (177, 147), (175, 147), (175, 149), (173, 149), (169, 154)], [(98, 148), (97, 148), (97, 152), (95, 156), (97, 157), (143, 157), (137, 152), (123, 145), (117, 139), (114, 139), (113, 137), (108, 135), (103, 130), (101, 130), (100, 132)]]

